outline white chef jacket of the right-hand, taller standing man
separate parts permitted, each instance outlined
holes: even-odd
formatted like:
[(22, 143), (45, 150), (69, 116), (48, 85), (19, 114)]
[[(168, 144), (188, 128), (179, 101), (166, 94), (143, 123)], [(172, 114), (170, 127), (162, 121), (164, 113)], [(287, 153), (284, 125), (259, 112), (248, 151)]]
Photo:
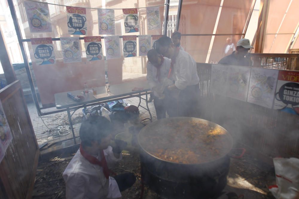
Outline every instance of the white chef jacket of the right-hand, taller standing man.
[(184, 90), (187, 86), (199, 83), (196, 62), (189, 53), (179, 50), (173, 68), (173, 79), (175, 80), (175, 85), (178, 89)]

